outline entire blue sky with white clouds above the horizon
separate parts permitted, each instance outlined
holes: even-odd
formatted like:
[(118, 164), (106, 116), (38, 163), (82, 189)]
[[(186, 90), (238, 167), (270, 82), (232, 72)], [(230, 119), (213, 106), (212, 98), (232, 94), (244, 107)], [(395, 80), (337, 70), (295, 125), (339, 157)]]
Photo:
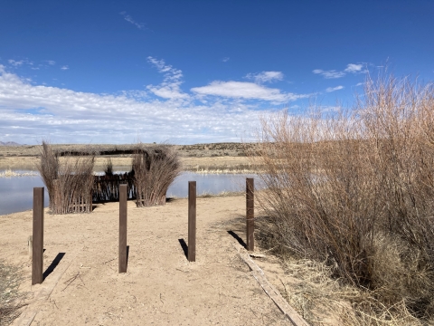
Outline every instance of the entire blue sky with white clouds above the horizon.
[(366, 72), (434, 76), (434, 1), (22, 1), (0, 10), (0, 141), (252, 139)]

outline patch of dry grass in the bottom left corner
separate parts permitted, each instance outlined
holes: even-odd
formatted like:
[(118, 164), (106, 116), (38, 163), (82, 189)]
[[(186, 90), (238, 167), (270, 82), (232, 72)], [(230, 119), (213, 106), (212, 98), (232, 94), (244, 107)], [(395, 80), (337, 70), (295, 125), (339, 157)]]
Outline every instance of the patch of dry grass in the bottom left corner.
[(10, 325), (25, 305), (27, 293), (19, 291), (22, 281), (20, 268), (0, 260), (0, 326)]

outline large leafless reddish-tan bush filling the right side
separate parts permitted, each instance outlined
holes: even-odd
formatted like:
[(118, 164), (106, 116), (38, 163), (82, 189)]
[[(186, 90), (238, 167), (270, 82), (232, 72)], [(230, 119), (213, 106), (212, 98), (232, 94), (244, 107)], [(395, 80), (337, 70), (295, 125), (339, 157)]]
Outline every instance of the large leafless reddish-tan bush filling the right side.
[[(367, 78), (354, 110), (261, 120), (262, 232), (325, 262), (391, 320), (434, 313), (434, 87)], [(382, 313), (359, 304), (359, 316)], [(354, 301), (356, 302), (356, 301)], [(355, 303), (354, 303), (355, 304)], [(378, 321), (379, 324), (382, 322)]]

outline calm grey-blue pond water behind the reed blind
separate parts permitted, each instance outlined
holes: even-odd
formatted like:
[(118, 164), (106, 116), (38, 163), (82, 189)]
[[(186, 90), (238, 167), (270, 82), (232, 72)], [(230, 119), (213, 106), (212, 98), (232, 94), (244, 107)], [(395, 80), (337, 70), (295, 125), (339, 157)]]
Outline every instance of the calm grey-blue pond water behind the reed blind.
[[(0, 170), (0, 173), (4, 172)], [(29, 171), (16, 171), (19, 173)], [(241, 191), (246, 188), (246, 177), (253, 175), (201, 175), (184, 172), (168, 188), (167, 197), (187, 197), (188, 181), (196, 181), (197, 195), (218, 194), (222, 191)], [(0, 177), (0, 215), (32, 209), (33, 187), (44, 187), (42, 178)], [(48, 206), (48, 193), (45, 189), (45, 206)]]

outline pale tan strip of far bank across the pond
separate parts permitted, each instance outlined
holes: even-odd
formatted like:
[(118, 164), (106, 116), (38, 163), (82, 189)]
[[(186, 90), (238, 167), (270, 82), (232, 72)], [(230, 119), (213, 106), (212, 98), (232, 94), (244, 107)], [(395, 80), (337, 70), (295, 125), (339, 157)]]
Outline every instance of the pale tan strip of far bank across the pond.
[[(113, 166), (116, 170), (129, 171), (131, 169), (132, 158), (111, 157)], [(29, 156), (0, 157), (0, 169), (30, 169), (36, 170), (41, 158)], [(184, 169), (194, 170), (197, 168), (236, 168), (250, 164), (247, 157), (212, 157), (212, 158), (181, 158)], [(97, 157), (95, 161), (95, 171), (103, 171), (107, 164), (107, 158)]]

